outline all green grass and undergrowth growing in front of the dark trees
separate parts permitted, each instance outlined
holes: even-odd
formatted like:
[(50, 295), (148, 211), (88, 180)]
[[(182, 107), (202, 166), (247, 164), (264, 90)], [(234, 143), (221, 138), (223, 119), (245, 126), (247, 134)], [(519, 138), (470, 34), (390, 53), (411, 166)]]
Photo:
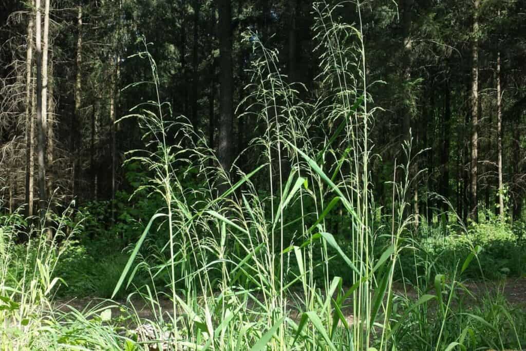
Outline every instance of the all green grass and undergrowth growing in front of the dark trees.
[[(79, 244), (98, 240), (89, 232), (96, 216), (68, 207), (46, 223), (1, 217), (0, 349), (524, 347), (522, 307), (499, 289), (474, 295), (468, 284), (522, 275), (523, 238), (490, 216), (465, 226), (453, 209), (447, 222), (417, 229), (409, 194), (425, 170), (413, 166), (422, 152), (410, 137), (393, 169), (390, 206), (376, 206), (368, 87), (382, 82), (368, 81), (362, 24), (338, 22), (324, 4), (315, 14), (321, 65), (309, 103), (304, 87), (279, 73), (276, 51), (245, 35), (258, 58), (238, 115), (264, 131), (238, 156), (257, 158), (248, 172), (238, 163), (223, 169), (206, 137), (174, 118), (145, 42), (135, 59), (149, 61), (152, 80), (123, 93), (146, 85), (151, 96), (123, 118), (145, 131), (145, 148), (130, 151), (125, 166), (141, 175), (129, 203), (151, 216), (90, 243), (96, 260), (84, 259)], [(136, 237), (125, 233), (136, 228)], [(131, 237), (123, 253), (102, 257)], [(92, 273), (75, 279), (79, 272)], [(140, 299), (151, 313), (140, 317), (133, 304), (112, 300), (57, 309), (61, 289)]]

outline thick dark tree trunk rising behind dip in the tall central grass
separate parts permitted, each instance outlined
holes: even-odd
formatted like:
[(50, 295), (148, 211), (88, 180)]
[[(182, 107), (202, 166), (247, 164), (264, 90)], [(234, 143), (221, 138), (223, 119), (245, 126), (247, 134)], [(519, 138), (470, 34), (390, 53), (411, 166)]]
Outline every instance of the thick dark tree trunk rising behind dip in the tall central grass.
[(219, 9), (219, 145), (218, 156), (221, 167), (228, 173), (232, 165), (232, 129), (234, 111), (232, 102), (232, 32), (230, 0), (218, 1)]

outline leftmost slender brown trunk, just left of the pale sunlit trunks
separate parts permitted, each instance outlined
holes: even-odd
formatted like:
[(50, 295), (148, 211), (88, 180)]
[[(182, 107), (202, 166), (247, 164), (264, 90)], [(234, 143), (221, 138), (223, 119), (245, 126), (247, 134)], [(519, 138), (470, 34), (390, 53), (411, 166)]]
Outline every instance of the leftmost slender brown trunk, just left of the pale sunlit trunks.
[(33, 111), (31, 109), (31, 71), (33, 69), (33, 13), (29, 14), (29, 21), (27, 22), (27, 54), (26, 54), (26, 99), (25, 99), (25, 114), (26, 114), (26, 180), (25, 180), (25, 202), (27, 204), (26, 217), (33, 216), (33, 173), (34, 173), (34, 122)]

